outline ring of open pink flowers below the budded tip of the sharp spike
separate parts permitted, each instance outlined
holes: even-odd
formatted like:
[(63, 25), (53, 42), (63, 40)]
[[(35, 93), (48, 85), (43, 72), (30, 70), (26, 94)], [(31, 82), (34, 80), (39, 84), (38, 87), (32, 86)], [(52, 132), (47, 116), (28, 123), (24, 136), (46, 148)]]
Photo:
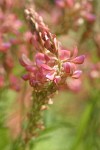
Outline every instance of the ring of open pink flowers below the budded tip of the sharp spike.
[[(69, 57), (68, 55), (62, 57), (63, 53), (67, 54), (68, 52)], [(60, 84), (68, 76), (77, 79), (82, 74), (81, 70), (77, 70), (77, 65), (84, 62), (84, 55), (73, 58), (70, 57), (70, 51), (68, 50), (60, 50), (59, 59), (49, 55), (38, 52), (35, 55), (34, 62), (30, 61), (24, 54), (22, 55), (20, 63), (28, 72), (22, 78), (29, 80), (31, 86), (43, 86), (49, 81)]]

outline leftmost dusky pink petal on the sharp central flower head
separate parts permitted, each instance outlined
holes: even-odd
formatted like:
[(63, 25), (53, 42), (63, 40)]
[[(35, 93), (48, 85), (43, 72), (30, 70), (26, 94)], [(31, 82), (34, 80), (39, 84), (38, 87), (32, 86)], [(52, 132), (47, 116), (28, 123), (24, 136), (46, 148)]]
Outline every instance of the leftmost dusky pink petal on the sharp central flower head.
[(22, 57), (19, 59), (19, 62), (22, 66), (32, 65), (32, 62), (27, 58), (25, 54), (22, 54)]

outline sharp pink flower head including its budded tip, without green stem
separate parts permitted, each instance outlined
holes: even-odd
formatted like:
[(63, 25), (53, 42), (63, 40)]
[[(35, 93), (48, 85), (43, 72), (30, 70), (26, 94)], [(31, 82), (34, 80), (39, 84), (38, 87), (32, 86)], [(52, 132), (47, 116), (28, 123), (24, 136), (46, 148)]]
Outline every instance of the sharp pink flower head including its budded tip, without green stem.
[(82, 71), (78, 70), (77, 66), (84, 62), (85, 56), (77, 56), (77, 47), (73, 52), (62, 49), (56, 36), (49, 31), (36, 12), (29, 9), (26, 10), (26, 15), (30, 25), (34, 27), (31, 27), (31, 30), (37, 53), (32, 61), (25, 54), (20, 58), (20, 64), (27, 71), (22, 78), (28, 80), (34, 89), (40, 90), (51, 82), (56, 86), (65, 84), (69, 76), (79, 78)]

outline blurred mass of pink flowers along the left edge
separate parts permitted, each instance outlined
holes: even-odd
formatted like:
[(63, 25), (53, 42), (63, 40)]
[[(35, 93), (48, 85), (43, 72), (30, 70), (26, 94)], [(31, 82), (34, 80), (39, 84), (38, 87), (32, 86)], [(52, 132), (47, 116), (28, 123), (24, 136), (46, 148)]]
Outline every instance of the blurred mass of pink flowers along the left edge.
[(19, 57), (22, 51), (27, 53), (31, 35), (20, 32), (24, 28), (23, 21), (13, 12), (12, 5), (11, 0), (0, 1), (0, 89), (5, 87), (19, 91), (20, 79), (14, 74), (16, 56)]

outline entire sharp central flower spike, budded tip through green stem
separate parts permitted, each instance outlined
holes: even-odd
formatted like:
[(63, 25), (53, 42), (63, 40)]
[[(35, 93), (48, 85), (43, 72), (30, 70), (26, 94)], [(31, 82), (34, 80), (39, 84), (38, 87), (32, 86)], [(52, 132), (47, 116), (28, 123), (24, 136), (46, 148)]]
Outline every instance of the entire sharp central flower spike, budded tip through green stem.
[(33, 60), (25, 54), (20, 58), (20, 64), (27, 72), (22, 78), (29, 81), (33, 88), (31, 108), (27, 114), (23, 137), (25, 143), (28, 143), (31, 138), (38, 136), (40, 129), (44, 129), (42, 111), (47, 109), (50, 98), (60, 86), (66, 84), (67, 77), (77, 79), (82, 74), (77, 66), (84, 62), (85, 56), (77, 56), (77, 47), (73, 52), (63, 49), (56, 35), (50, 32), (42, 17), (33, 9), (26, 9), (25, 14), (32, 32), (32, 43), (36, 49)]

